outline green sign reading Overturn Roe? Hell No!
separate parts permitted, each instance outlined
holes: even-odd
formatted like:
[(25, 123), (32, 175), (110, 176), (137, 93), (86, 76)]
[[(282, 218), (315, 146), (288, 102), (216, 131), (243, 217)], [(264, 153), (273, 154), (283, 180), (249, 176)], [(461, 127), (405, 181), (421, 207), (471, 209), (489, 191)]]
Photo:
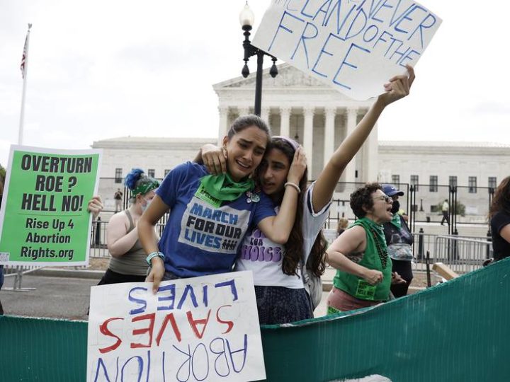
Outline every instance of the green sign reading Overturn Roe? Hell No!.
[(100, 150), (11, 146), (0, 210), (0, 265), (88, 265)]

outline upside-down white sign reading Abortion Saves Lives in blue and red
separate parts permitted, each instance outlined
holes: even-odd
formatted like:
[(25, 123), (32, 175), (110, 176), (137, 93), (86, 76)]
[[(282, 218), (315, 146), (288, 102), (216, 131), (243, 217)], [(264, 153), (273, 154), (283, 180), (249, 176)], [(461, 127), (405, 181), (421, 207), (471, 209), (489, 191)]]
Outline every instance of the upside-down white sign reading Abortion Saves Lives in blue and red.
[(91, 287), (87, 381), (260, 379), (251, 272)]

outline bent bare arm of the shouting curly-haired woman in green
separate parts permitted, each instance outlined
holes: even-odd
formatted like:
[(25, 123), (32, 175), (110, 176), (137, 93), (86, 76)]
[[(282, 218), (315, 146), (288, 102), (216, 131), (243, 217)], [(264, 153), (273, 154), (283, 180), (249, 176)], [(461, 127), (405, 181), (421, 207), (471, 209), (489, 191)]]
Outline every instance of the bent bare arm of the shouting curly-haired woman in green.
[(382, 272), (370, 270), (349, 260), (344, 253), (362, 253), (366, 247), (366, 233), (361, 226), (353, 226), (342, 233), (327, 249), (331, 267), (361, 277), (371, 285), (382, 282)]

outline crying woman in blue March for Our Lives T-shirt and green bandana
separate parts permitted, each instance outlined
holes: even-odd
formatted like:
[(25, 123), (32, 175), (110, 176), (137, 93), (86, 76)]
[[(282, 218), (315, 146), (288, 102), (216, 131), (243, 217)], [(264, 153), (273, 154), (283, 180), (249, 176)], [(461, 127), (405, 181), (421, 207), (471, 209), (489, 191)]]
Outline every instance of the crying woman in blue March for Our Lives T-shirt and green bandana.
[[(232, 271), (239, 246), (252, 224), (275, 243), (285, 243), (295, 219), (298, 192), (285, 190), (278, 215), (270, 199), (254, 190), (251, 173), (270, 141), (260, 117), (237, 118), (223, 139), (226, 173), (210, 175), (205, 166), (187, 162), (171, 170), (138, 224), (140, 241), (152, 269), (147, 276), (157, 291), (162, 279)], [(296, 151), (287, 181), (299, 183), (306, 159)], [(154, 224), (170, 209), (157, 244)]]

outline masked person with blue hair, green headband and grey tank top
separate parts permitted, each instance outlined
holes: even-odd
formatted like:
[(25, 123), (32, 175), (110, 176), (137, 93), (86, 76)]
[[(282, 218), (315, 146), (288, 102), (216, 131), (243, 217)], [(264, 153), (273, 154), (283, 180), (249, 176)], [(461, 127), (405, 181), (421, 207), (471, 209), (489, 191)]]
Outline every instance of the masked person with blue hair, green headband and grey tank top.
[(124, 183), (131, 190), (130, 207), (111, 217), (106, 226), (106, 245), (111, 255), (108, 270), (98, 285), (144, 282), (147, 277), (145, 251), (138, 240), (136, 226), (154, 198), (159, 181), (133, 168)]

